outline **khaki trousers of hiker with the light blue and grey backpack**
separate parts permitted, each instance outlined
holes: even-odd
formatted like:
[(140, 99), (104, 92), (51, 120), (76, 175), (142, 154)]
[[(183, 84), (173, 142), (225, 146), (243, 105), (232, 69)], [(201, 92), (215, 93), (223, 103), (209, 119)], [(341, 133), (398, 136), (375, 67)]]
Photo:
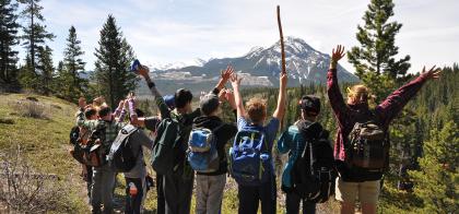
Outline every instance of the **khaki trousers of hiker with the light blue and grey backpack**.
[(196, 177), (196, 213), (219, 214), (222, 207), (223, 190), (226, 174), (220, 176), (197, 175)]

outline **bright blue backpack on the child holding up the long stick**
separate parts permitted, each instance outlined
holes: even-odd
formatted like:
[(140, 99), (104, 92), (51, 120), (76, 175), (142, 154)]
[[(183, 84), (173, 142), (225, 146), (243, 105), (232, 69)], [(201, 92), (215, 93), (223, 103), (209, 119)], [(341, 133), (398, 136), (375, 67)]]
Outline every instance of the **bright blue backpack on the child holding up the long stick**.
[(247, 127), (237, 132), (229, 148), (229, 173), (243, 186), (260, 186), (268, 181), (271, 151), (262, 131)]

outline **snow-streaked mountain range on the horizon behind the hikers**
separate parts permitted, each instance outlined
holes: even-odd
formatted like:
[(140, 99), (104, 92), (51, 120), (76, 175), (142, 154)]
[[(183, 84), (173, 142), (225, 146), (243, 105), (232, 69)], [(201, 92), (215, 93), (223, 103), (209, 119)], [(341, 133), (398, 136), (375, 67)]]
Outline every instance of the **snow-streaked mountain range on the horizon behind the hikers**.
[[(330, 63), (329, 55), (314, 49), (301, 38), (286, 37), (284, 45), (290, 86), (326, 82)], [(160, 86), (164, 85), (165, 92), (172, 93), (180, 85), (195, 92), (209, 91), (219, 80), (220, 71), (227, 64), (232, 64), (244, 75), (243, 85), (278, 86), (281, 61), (281, 47), (278, 41), (268, 48), (254, 47), (244, 56), (236, 58), (196, 60), (195, 63), (186, 67), (180, 63), (148, 66), (156, 82), (160, 82)], [(355, 75), (341, 66), (338, 67), (338, 78), (343, 82), (357, 81)]]

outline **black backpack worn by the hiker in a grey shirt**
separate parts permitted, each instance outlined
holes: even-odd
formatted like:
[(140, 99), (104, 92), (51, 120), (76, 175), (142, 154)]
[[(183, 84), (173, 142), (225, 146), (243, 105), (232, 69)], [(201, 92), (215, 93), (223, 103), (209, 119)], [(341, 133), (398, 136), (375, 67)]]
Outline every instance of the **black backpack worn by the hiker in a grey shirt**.
[(119, 173), (130, 171), (137, 163), (137, 158), (141, 152), (133, 151), (130, 136), (138, 129), (132, 124), (125, 126), (116, 136), (111, 144), (110, 152), (107, 155), (107, 160), (113, 169)]

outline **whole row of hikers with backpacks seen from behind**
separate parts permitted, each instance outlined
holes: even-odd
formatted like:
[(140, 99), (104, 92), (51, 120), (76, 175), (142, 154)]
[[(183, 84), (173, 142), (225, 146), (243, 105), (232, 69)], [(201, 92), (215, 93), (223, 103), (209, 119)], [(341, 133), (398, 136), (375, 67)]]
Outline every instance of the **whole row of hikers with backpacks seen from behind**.
[[(270, 117), (261, 98), (251, 97), (244, 105), (242, 78), (231, 66), (216, 86), (201, 95), (199, 108), (192, 109), (189, 90), (162, 96), (149, 69), (136, 61), (132, 70), (146, 82), (156, 116), (148, 117), (137, 108), (132, 94), (115, 111), (99, 98), (91, 105), (79, 100), (72, 155), (82, 163), (92, 212), (113, 212), (116, 175), (123, 174), (125, 212), (142, 213), (152, 186), (143, 156), (146, 148), (152, 151), (150, 164), (156, 171), (157, 213), (190, 213), (195, 182), (196, 213), (222, 213), (227, 174), (237, 182), (238, 213), (256, 214), (260, 202), (261, 213), (276, 213), (272, 158), (276, 142), (279, 153), (289, 154), (281, 182), (286, 213), (299, 213), (302, 202), (303, 213), (315, 213), (316, 203), (333, 194), (341, 202), (341, 213), (354, 213), (357, 200), (364, 214), (376, 213), (389, 158), (389, 123), (427, 80), (439, 76), (439, 70), (423, 70), (369, 108), (370, 91), (364, 85), (348, 88), (348, 99), (343, 98), (337, 78), (343, 56), (342, 46), (332, 50), (327, 73), (328, 98), (338, 123), (334, 152), (329, 132), (318, 122), (321, 100), (315, 95), (298, 97), (298, 120), (276, 139), (286, 106), (286, 73), (280, 74), (276, 107)], [(228, 81), (232, 91), (225, 88)], [(232, 107), (236, 123), (222, 120), (224, 102)]]

